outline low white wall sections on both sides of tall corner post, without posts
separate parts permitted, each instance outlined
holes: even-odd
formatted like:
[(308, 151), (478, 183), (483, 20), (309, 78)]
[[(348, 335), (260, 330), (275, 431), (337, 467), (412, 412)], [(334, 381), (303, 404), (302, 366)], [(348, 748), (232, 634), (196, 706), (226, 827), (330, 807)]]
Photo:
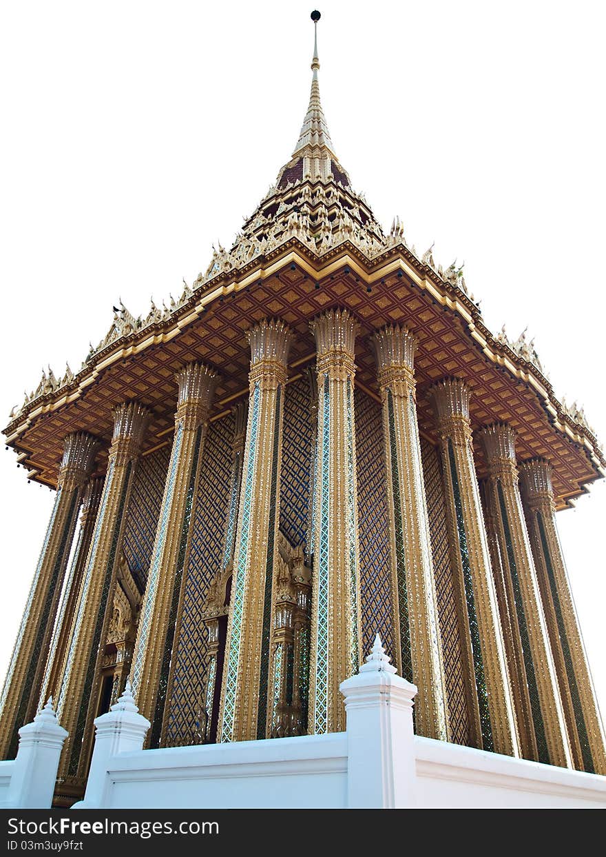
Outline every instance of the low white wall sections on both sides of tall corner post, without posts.
[[(108, 809), (347, 808), (347, 733), (121, 753)], [(602, 808), (606, 778), (415, 737), (419, 808)], [(94, 808), (86, 800), (76, 805)]]

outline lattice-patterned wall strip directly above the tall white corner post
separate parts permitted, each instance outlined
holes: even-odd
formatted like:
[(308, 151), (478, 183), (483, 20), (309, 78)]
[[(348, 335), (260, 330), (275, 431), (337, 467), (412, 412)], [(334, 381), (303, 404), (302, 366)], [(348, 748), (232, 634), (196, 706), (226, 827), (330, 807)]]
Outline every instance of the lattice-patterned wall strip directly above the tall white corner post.
[(362, 390), (354, 395), (358, 475), (358, 530), (361, 650), (370, 651), (375, 634), (388, 655), (393, 646), (389, 584), (389, 512), (381, 405)]

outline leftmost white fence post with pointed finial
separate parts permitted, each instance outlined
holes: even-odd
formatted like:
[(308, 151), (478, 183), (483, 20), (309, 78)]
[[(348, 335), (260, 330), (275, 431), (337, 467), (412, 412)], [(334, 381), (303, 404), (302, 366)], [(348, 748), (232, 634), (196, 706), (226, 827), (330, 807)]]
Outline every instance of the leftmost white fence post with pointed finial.
[(67, 731), (59, 725), (52, 699), (19, 730), (19, 749), (4, 806), (48, 809), (55, 791), (56, 769)]

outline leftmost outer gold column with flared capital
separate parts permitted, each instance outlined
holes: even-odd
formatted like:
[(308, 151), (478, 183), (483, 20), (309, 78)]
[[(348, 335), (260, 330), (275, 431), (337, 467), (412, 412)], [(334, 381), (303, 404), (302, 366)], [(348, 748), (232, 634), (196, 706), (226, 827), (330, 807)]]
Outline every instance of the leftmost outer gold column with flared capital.
[(0, 758), (15, 757), (18, 730), (33, 721), (38, 708), (82, 490), (98, 446), (98, 440), (86, 432), (68, 434), (63, 443), (55, 504), (0, 698)]

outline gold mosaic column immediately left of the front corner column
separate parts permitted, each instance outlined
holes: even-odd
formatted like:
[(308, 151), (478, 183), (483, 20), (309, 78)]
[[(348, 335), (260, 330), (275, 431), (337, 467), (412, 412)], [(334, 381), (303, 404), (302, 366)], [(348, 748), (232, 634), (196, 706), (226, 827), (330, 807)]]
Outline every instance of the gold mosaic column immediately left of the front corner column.
[(291, 334), (276, 320), (259, 322), (247, 336), (250, 396), (219, 714), (221, 741), (265, 738), (270, 728), (271, 593)]

